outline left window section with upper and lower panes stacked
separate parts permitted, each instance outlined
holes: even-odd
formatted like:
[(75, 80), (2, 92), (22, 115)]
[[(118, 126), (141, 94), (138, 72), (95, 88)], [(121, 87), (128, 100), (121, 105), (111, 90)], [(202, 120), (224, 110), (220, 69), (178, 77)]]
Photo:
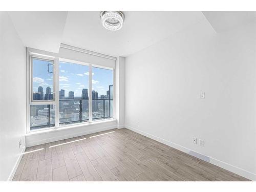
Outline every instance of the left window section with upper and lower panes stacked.
[(54, 60), (30, 57), (30, 130), (55, 126)]

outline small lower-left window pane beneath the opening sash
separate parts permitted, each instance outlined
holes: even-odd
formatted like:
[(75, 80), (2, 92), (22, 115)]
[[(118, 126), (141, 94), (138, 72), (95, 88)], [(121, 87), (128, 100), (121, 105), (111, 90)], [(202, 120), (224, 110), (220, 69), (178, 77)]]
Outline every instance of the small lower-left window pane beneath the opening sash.
[(51, 126), (55, 126), (55, 105), (30, 105), (30, 130), (36, 130)]

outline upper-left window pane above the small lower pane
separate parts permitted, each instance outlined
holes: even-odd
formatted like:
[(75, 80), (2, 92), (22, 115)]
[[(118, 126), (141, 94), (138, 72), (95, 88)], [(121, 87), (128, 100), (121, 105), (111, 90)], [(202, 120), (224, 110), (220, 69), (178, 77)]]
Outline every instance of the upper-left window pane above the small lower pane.
[(54, 67), (53, 61), (32, 58), (33, 100), (53, 100)]

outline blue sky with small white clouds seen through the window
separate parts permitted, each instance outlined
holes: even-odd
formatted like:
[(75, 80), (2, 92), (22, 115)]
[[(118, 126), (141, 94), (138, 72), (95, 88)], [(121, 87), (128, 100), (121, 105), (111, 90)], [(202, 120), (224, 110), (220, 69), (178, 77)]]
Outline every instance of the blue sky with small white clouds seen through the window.
[[(53, 74), (48, 73), (48, 61), (34, 60), (33, 61), (33, 91), (36, 92), (39, 86), (44, 89), (51, 87), (53, 84)], [(52, 68), (50, 66), (50, 71)], [(109, 85), (113, 84), (113, 71), (93, 67), (92, 69), (93, 90), (98, 92), (98, 95), (106, 95), (109, 90)], [(68, 96), (69, 91), (74, 91), (75, 96), (81, 97), (82, 89), (89, 89), (89, 67), (69, 62), (59, 62), (59, 90), (65, 90), (65, 96)]]

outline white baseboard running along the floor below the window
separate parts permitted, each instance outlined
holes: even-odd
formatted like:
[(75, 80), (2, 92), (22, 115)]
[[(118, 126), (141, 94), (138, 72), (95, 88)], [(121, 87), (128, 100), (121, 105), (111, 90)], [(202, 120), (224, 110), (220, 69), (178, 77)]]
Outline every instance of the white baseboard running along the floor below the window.
[(30, 147), (30, 146), (50, 143), (50, 142), (54, 142), (54, 141), (59, 141), (59, 140), (62, 140), (62, 139), (69, 139), (69, 138), (72, 138), (72, 137), (88, 135), (88, 134), (92, 134), (92, 133), (96, 133), (96, 132), (115, 129), (116, 127), (117, 127), (116, 125), (113, 125), (113, 126), (102, 127), (102, 128), (99, 128), (99, 129), (93, 129), (93, 130), (89, 130), (89, 131), (78, 132), (78, 133), (75, 133), (75, 134), (67, 134), (67, 135), (61, 135), (61, 136), (51, 137), (51, 138), (47, 138), (47, 139), (30, 141), (30, 142), (26, 143), (26, 146)]

